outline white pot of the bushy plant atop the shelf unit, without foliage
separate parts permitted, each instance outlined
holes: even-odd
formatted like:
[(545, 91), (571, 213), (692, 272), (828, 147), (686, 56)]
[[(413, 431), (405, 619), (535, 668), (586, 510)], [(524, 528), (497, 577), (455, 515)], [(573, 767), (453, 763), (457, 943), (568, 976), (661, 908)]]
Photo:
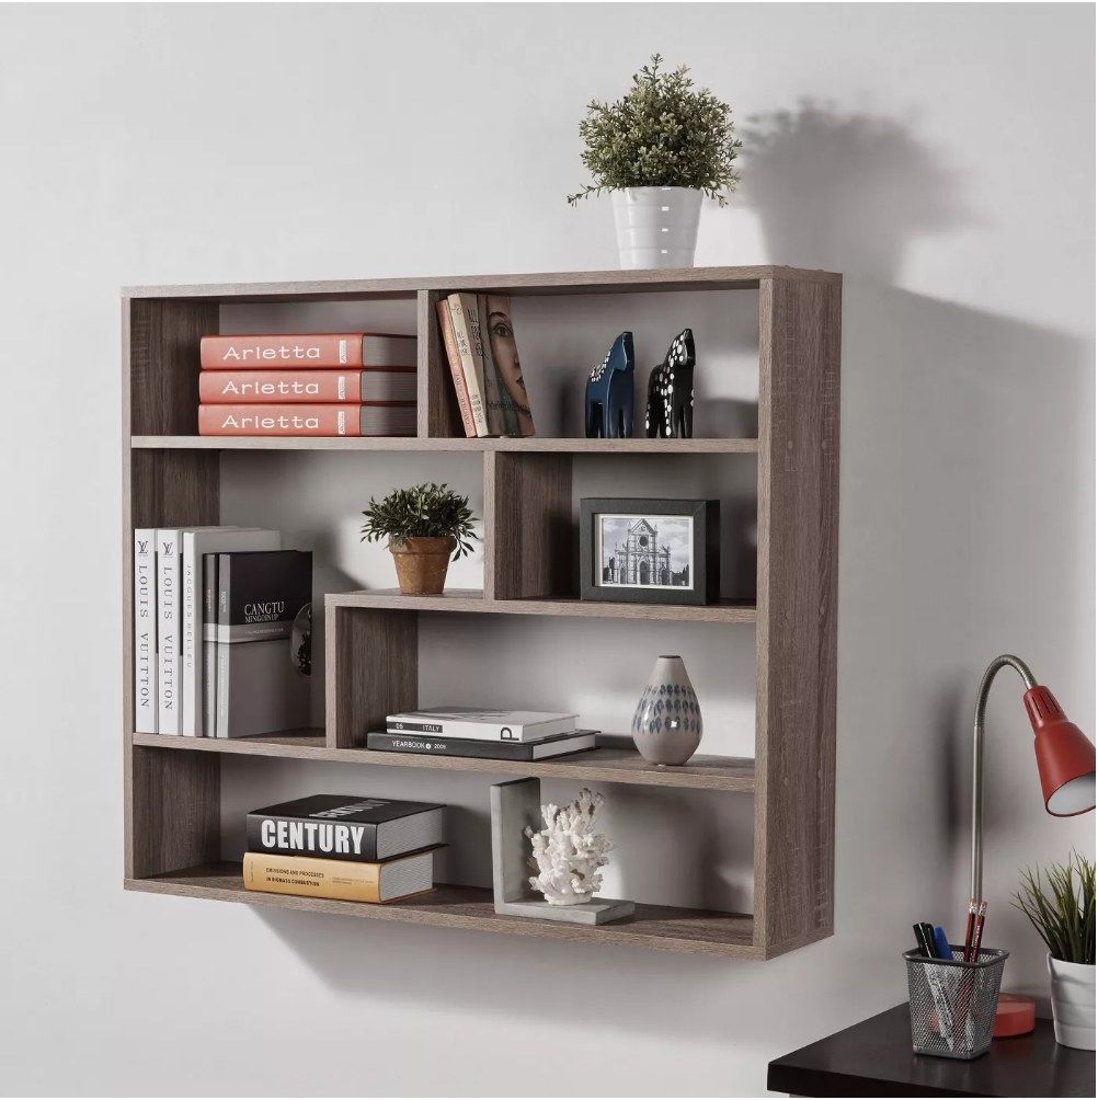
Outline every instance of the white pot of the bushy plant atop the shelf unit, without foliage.
[(693, 267), (702, 193), (687, 187), (611, 191), (623, 270)]

